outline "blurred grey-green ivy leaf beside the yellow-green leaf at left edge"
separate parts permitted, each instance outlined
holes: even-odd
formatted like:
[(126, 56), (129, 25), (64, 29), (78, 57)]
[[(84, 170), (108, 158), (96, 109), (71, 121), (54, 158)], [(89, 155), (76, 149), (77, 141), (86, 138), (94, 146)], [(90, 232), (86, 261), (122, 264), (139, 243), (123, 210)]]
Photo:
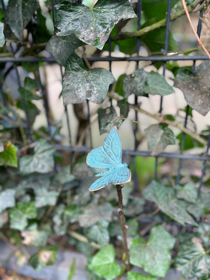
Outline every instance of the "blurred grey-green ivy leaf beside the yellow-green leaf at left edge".
[(53, 171), (53, 154), (55, 150), (45, 139), (39, 140), (34, 148), (34, 155), (25, 155), (20, 158), (21, 174), (26, 175), (33, 172), (48, 173)]

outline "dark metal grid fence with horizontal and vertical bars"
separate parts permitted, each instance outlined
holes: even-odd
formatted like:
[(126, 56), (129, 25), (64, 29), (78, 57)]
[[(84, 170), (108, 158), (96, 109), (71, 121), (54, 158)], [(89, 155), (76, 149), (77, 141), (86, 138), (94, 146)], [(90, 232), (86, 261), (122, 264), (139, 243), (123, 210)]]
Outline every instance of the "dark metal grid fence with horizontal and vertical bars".
[[(53, 6), (55, 4), (55, 2), (52, 0), (51, 1), (53, 3)], [(80, 1), (81, 2), (81, 1)], [(141, 28), (140, 25), (140, 21), (141, 21), (141, 5), (142, 5), (143, 0), (138, 0), (138, 4), (137, 4), (137, 16), (138, 16), (138, 29)], [(88, 58), (89, 62), (109, 62), (110, 65), (110, 70), (112, 70), (112, 63), (113, 62), (124, 62), (124, 61), (134, 61), (137, 62), (142, 62), (142, 61), (150, 61), (150, 62), (163, 62), (163, 75), (165, 75), (166, 72), (166, 62), (167, 61), (193, 61), (193, 71), (195, 69), (195, 63), (197, 60), (207, 60), (208, 58), (205, 55), (182, 55), (182, 56), (178, 56), (178, 55), (167, 55), (168, 53), (168, 47), (169, 47), (169, 25), (170, 25), (170, 11), (171, 11), (171, 5), (172, 5), (172, 0), (168, 0), (168, 10), (167, 10), (167, 24), (166, 24), (166, 36), (165, 36), (165, 48), (163, 51), (163, 55), (158, 55), (158, 56), (151, 56), (151, 57), (129, 57), (129, 58), (117, 58), (117, 57), (113, 57), (111, 56), (111, 43), (112, 43), (112, 38), (110, 37), (108, 40), (108, 46), (109, 46), (109, 57), (91, 57)], [(4, 8), (4, 1), (2, 0), (2, 6)], [(54, 11), (54, 10), (53, 10)], [(201, 32), (201, 18), (202, 18), (202, 11), (200, 12), (200, 19), (198, 21), (198, 25), (197, 25), (197, 34), (200, 36), (200, 32)], [(6, 27), (6, 29), (8, 29), (8, 27)], [(56, 60), (54, 58), (29, 58), (29, 57), (15, 57), (14, 56), (14, 50), (13, 50), (13, 45), (9, 42), (7, 42), (7, 46), (8, 46), (8, 50), (10, 52), (12, 52), (13, 57), (0, 57), (0, 63), (1, 64), (5, 64), (5, 63), (11, 63), (13, 68), (16, 71), (16, 77), (17, 77), (17, 81), (19, 86), (22, 85), (21, 82), (21, 78), (20, 78), (20, 74), (18, 72), (17, 66), (21, 65), (22, 63), (33, 63), (36, 66), (37, 72), (38, 72), (38, 79), (41, 85), (41, 78), (40, 78), (40, 72), (39, 72), (39, 62), (44, 62), (44, 63), (56, 63)], [(138, 37), (136, 38), (136, 52), (139, 53), (139, 49), (141, 46), (141, 38)], [(61, 69), (61, 73), (62, 73), (62, 69)], [(61, 81), (62, 83), (62, 81)], [(49, 114), (48, 114), (48, 103), (47, 103), (47, 96), (45, 94), (44, 88), (41, 85), (41, 91), (43, 94), (43, 102), (44, 102), (44, 108), (45, 108), (45, 114), (46, 114), (46, 119), (47, 119), (47, 125), (48, 125), (48, 131), (49, 131), (49, 127), (50, 127), (50, 118), (49, 118)], [(163, 98), (161, 98), (161, 102), (160, 102), (160, 109), (159, 112), (162, 112), (163, 109)], [(0, 92), (0, 101), (2, 102), (2, 104), (5, 104), (4, 101), (4, 96), (2, 93), (2, 90)], [(137, 97), (135, 97), (135, 104), (137, 105)], [(22, 104), (23, 104), (23, 108), (25, 111), (25, 115), (26, 115), (26, 120), (27, 120), (27, 127), (26, 127), (26, 134), (29, 136), (29, 138), (32, 141), (32, 134), (31, 134), (31, 125), (29, 122), (29, 118), (28, 118), (28, 114), (27, 114), (27, 108), (25, 105), (25, 101), (22, 99)], [(86, 103), (87, 106), (87, 110), (88, 110), (88, 122), (90, 124), (90, 113), (89, 113), (89, 103)], [(79, 151), (81, 153), (87, 153), (88, 151), (90, 151), (90, 149), (92, 148), (91, 145), (90, 147), (87, 146), (74, 146), (72, 144), (72, 137), (71, 137), (71, 133), (72, 133), (72, 120), (70, 119), (69, 115), (68, 115), (68, 110), (67, 107), (65, 107), (65, 114), (66, 114), (66, 118), (67, 118), (67, 124), (68, 124), (68, 137), (69, 137), (69, 145), (68, 146), (64, 146), (61, 144), (57, 144), (56, 147), (59, 150), (65, 150), (65, 151), (69, 151), (71, 154), (74, 153), (75, 151)], [(185, 121), (183, 123), (184, 127), (187, 127), (187, 121), (188, 121), (188, 116), (189, 116), (189, 106), (187, 106), (186, 109), (186, 114), (185, 114)], [(136, 120), (137, 120), (137, 115), (136, 115)], [(133, 133), (134, 133), (134, 149), (133, 150), (123, 150), (124, 153), (129, 154), (131, 156), (143, 156), (143, 157), (149, 157), (152, 156), (150, 151), (145, 151), (145, 150), (138, 150), (137, 147), (137, 140), (136, 140), (136, 133), (137, 133), (137, 126), (138, 124), (134, 125), (134, 129), (133, 129)], [(91, 130), (91, 126), (90, 130)], [(89, 131), (89, 137), (90, 137), (90, 143), (92, 143), (92, 133), (91, 131)], [(185, 134), (182, 134), (182, 139), (181, 139), (181, 146), (183, 146), (185, 143)], [(203, 177), (205, 175), (205, 169), (206, 169), (206, 162), (210, 160), (210, 156), (208, 155), (208, 149), (209, 149), (209, 145), (210, 145), (210, 134), (208, 136), (208, 142), (207, 142), (207, 146), (206, 146), (206, 151), (204, 154), (189, 154), (189, 153), (181, 153), (181, 152), (176, 152), (176, 153), (169, 153), (169, 152), (162, 152), (158, 155), (155, 155), (155, 169), (154, 169), (154, 178), (158, 179), (159, 175), (158, 175), (158, 164), (159, 164), (159, 159), (162, 158), (174, 158), (178, 160), (178, 169), (177, 169), (177, 177), (176, 177), (176, 184), (179, 184), (180, 182), (180, 176), (181, 176), (181, 170), (182, 170), (182, 163), (183, 160), (198, 160), (198, 161), (202, 161), (202, 173), (200, 176), (200, 180), (199, 180), (199, 188), (198, 188), (198, 192), (200, 192), (200, 188), (203, 184)], [(151, 178), (152, 179), (152, 178)]]

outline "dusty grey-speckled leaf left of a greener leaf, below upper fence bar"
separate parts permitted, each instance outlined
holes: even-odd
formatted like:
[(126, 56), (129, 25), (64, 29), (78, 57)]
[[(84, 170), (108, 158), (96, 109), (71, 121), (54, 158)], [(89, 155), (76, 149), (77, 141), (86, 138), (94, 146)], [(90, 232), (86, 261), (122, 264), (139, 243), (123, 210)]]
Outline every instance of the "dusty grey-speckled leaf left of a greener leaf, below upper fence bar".
[(132, 93), (137, 96), (144, 96), (143, 87), (148, 76), (149, 72), (143, 69), (137, 69), (133, 74), (126, 76), (123, 80), (124, 97), (127, 98)]

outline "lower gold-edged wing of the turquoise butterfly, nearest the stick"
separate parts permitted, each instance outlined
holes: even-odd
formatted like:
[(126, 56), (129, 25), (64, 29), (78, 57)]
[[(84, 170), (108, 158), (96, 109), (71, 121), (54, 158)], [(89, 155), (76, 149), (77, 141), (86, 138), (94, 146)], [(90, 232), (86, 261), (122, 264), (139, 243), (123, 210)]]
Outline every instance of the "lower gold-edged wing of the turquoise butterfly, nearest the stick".
[(89, 191), (96, 191), (110, 184), (123, 184), (131, 180), (131, 172), (126, 166), (120, 166), (110, 170), (106, 175), (97, 179), (89, 188)]

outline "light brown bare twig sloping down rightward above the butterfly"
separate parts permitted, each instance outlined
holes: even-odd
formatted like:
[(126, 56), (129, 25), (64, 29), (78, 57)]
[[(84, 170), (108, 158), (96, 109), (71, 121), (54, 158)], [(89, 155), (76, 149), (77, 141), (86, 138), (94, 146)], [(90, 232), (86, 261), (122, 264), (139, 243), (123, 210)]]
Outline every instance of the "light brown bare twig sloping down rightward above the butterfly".
[[(108, 93), (108, 96), (109, 96), (110, 98), (113, 98), (113, 99), (117, 100), (117, 101), (120, 100), (120, 98), (118, 98), (117, 96), (113, 95), (113, 94), (110, 93), (110, 92)], [(201, 144), (207, 145), (207, 141), (206, 141), (205, 139), (203, 139), (203, 138), (200, 137), (199, 135), (197, 135), (197, 134), (191, 132), (191, 131), (188, 130), (187, 128), (182, 127), (182, 126), (176, 124), (176, 123), (173, 122), (173, 121), (170, 121), (170, 120), (167, 120), (167, 119), (163, 119), (163, 116), (153, 115), (153, 114), (151, 114), (151, 113), (149, 113), (149, 112), (147, 112), (147, 111), (145, 111), (145, 110), (139, 108), (137, 105), (133, 105), (133, 104), (130, 104), (130, 103), (128, 103), (128, 105), (129, 105), (130, 108), (132, 108), (132, 109), (138, 111), (139, 113), (142, 113), (142, 114), (144, 114), (144, 115), (146, 115), (146, 116), (149, 116), (149, 117), (151, 117), (151, 118), (153, 118), (153, 119), (155, 119), (155, 120), (157, 120), (157, 121), (159, 121), (159, 122), (162, 122), (162, 123), (164, 123), (164, 124), (167, 124), (167, 125), (176, 127), (176, 128), (178, 128), (178, 129), (180, 129), (182, 132), (184, 132), (185, 134), (188, 134), (190, 137), (192, 137), (192, 138), (195, 139), (196, 141), (200, 142)]]

